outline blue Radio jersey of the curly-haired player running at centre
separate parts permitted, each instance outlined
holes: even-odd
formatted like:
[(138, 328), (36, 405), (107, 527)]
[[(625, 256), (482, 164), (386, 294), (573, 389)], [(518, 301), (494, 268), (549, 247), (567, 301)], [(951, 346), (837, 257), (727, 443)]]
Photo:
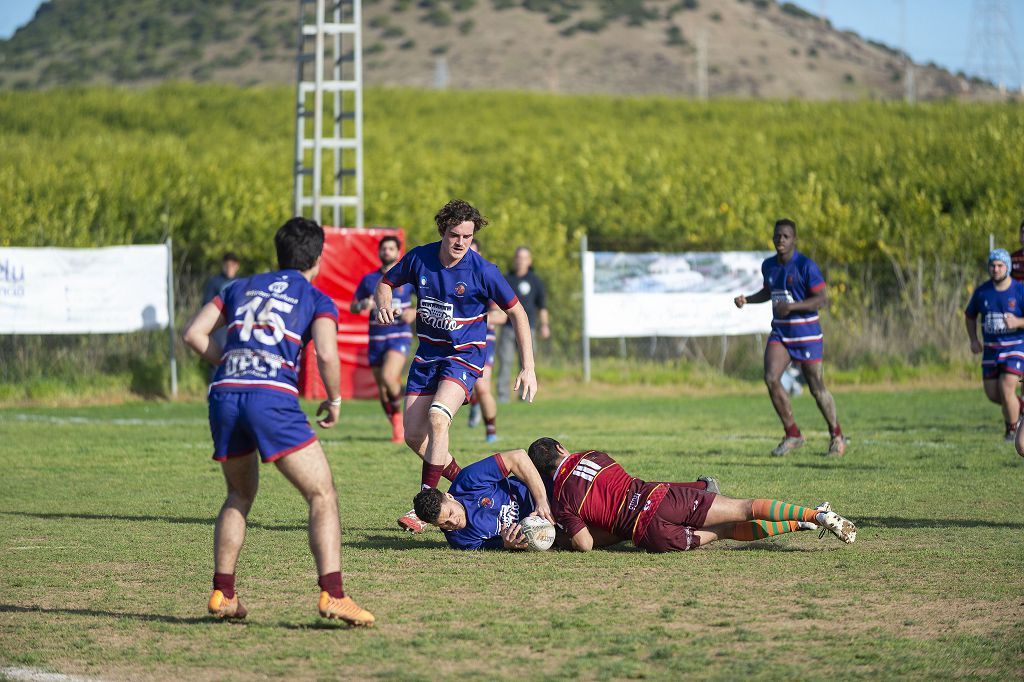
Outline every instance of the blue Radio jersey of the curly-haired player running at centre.
[(475, 251), (468, 251), (452, 267), (441, 265), (440, 242), (425, 244), (406, 254), (384, 275), (392, 288), (416, 288), (415, 360), (452, 359), (476, 376), (483, 372), (487, 333), (487, 301), (508, 310), (519, 299), (498, 267)]

